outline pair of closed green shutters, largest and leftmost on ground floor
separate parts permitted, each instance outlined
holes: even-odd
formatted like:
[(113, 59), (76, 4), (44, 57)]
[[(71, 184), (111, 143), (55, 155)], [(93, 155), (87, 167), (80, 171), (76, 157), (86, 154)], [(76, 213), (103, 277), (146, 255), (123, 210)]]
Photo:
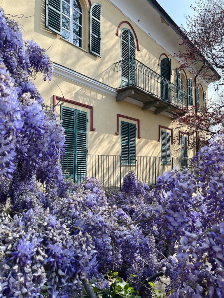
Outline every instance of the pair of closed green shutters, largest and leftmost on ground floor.
[(61, 106), (61, 119), (66, 145), (62, 173), (79, 183), (87, 174), (87, 113)]

